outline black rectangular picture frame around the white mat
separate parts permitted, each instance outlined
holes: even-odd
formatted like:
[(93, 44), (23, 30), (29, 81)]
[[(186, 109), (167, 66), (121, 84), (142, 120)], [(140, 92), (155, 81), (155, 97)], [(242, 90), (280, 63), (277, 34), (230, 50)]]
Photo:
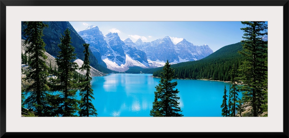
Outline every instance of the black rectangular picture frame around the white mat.
[[(6, 132), (6, 6), (283, 6), (284, 24), (284, 80), (283, 80), (283, 132)], [(1, 0), (1, 80), (2, 87), (0, 93), (1, 102), (1, 137), (246, 137), (246, 138), (266, 138), (266, 137), (288, 137), (288, 0), (167, 0), (167, 1), (123, 1), (123, 0)], [(5, 73), (5, 74), (4, 74)], [(4, 80), (4, 81), (3, 81)], [(269, 124), (268, 124), (269, 125)]]

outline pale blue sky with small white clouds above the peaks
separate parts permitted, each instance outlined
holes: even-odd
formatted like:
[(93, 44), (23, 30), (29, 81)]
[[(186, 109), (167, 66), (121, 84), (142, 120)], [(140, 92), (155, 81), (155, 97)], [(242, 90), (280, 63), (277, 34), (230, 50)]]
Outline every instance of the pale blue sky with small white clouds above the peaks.
[(95, 25), (103, 35), (118, 33), (122, 40), (130, 38), (133, 42), (139, 38), (151, 42), (169, 36), (176, 44), (184, 38), (197, 46), (207, 44), (214, 52), (240, 42), (244, 34), (240, 28), (245, 27), (240, 21), (73, 21), (70, 24), (77, 32)]

